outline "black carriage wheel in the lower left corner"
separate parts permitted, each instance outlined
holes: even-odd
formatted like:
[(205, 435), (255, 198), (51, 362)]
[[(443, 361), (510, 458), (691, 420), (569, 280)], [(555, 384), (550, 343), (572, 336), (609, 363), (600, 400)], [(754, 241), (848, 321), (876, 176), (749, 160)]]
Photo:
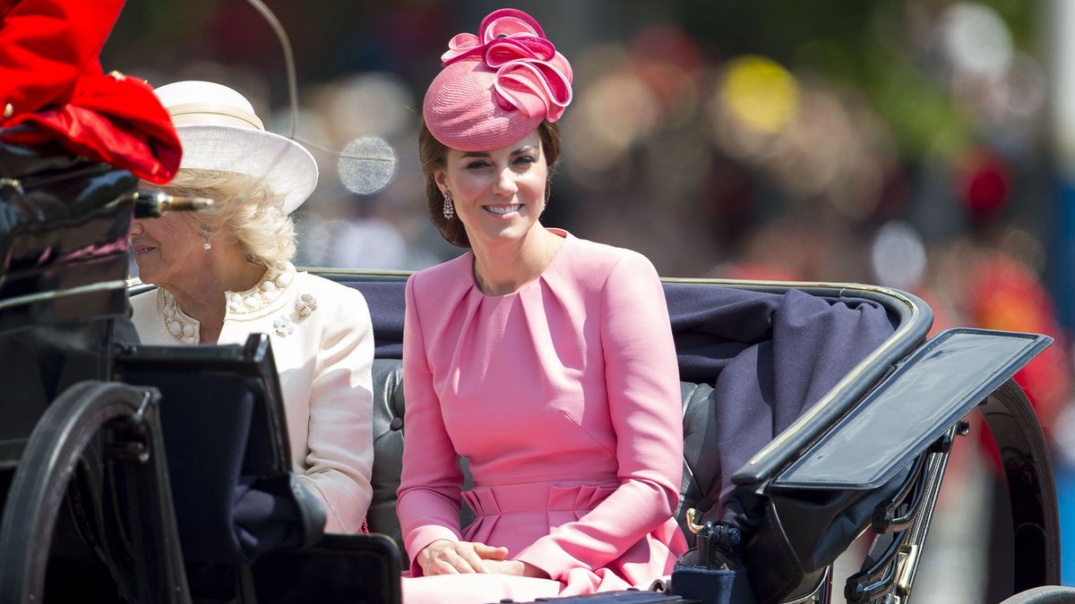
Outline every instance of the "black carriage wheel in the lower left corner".
[(189, 602), (159, 446), (156, 397), (145, 388), (81, 382), (48, 406), (30, 434), (0, 519), (0, 602), (42, 601), (60, 505), (78, 459), (102, 429), (127, 440), (133, 455), (120, 461), (134, 469), (129, 479), (143, 498), (128, 502), (138, 517), (133, 532), (142, 542), (134, 544), (142, 546), (134, 553), (146, 562), (139, 564), (139, 601)]

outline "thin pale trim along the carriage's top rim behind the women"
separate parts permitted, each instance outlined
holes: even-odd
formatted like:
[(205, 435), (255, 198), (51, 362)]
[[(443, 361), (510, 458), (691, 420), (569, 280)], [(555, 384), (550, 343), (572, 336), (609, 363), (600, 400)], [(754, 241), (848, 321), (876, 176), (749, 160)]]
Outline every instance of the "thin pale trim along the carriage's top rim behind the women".
[[(378, 276), (407, 276), (412, 271), (371, 271), (362, 269), (326, 269), (326, 268), (303, 268), (299, 269), (301, 271), (307, 271), (311, 273), (320, 274), (334, 274), (334, 275), (378, 275)], [(849, 284), (849, 283), (823, 283), (823, 282), (784, 282), (784, 281), (749, 281), (749, 279), (721, 279), (721, 278), (682, 278), (682, 277), (662, 277), (664, 283), (682, 283), (682, 284), (699, 284), (699, 285), (727, 285), (727, 286), (759, 286), (759, 287), (778, 287), (784, 289), (836, 289), (840, 290), (840, 296), (843, 296), (845, 291), (870, 291), (874, 293), (880, 293), (889, 298), (894, 298), (897, 301), (906, 304), (911, 308), (911, 320), (904, 322), (900, 326), (892, 335), (888, 336), (885, 342), (882, 343), (873, 353), (871, 353), (865, 359), (862, 359), (859, 364), (855, 365), (847, 375), (844, 376), (835, 386), (832, 387), (821, 399), (806, 411), (803, 415), (799, 416), (794, 422), (791, 423), (787, 429), (776, 435), (775, 438), (769, 442), (768, 445), (761, 448), (760, 451), (756, 452), (747, 465), (757, 465), (769, 456), (774, 449), (783, 445), (786, 441), (798, 434), (809, 421), (820, 414), (832, 401), (835, 399), (842, 390), (847, 388), (852, 382), (855, 382), (859, 375), (865, 372), (865, 369), (873, 363), (877, 362), (890, 348), (895, 346), (895, 343), (901, 341), (913, 327), (915, 327), (916, 320), (921, 314), (921, 310), (915, 302), (901, 293), (898, 290), (890, 289), (887, 287), (880, 287), (875, 285), (863, 285), (863, 284)]]

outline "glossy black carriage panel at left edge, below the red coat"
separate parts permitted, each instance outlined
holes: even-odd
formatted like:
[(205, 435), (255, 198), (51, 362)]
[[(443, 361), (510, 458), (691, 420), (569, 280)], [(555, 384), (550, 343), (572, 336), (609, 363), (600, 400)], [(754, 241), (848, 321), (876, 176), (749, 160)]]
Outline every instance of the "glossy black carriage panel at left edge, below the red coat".
[(111, 378), (127, 319), (127, 233), (138, 178), (126, 170), (0, 143), (0, 469), (22, 456), (48, 403)]

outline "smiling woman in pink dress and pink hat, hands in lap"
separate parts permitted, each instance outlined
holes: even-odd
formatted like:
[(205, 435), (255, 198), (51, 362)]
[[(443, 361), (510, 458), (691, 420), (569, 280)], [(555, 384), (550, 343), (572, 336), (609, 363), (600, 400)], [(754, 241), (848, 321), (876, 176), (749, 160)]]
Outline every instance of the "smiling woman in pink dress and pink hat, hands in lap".
[(404, 601), (645, 588), (686, 549), (661, 284), (643, 256), (539, 220), (572, 77), (541, 26), (499, 10), (448, 46), (419, 156), (433, 224), (471, 251), (406, 287)]

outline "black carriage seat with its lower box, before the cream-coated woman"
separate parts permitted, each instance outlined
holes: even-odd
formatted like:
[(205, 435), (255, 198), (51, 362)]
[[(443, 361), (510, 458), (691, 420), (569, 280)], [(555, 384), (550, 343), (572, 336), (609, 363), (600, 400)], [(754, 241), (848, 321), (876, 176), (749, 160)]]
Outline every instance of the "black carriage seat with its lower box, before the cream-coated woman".
[(398, 601), (395, 544), (326, 535), (324, 506), (292, 473), (267, 335), (253, 334), (243, 346), (129, 346), (117, 355), (116, 372), (161, 392), (176, 524), (196, 601)]

